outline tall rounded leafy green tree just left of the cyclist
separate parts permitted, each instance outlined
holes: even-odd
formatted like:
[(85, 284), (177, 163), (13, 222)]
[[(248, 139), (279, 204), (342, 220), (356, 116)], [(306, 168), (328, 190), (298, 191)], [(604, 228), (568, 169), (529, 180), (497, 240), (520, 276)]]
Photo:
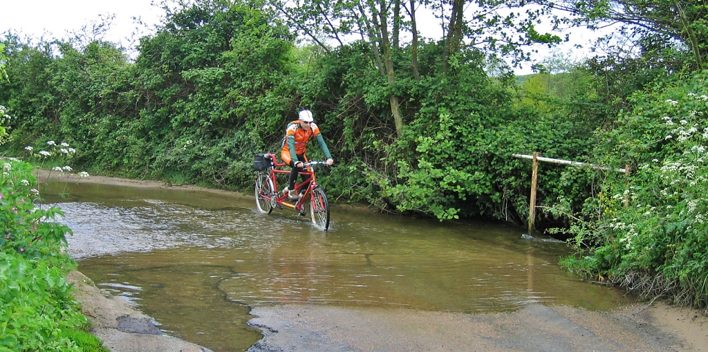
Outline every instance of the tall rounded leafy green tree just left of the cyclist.
[(296, 109), (292, 35), (261, 8), (258, 1), (190, 2), (142, 38), (130, 92), (141, 117), (133, 135), (153, 148), (157, 174), (233, 185), (248, 178), (234, 165), (263, 152), (271, 135), (282, 137), (283, 116)]

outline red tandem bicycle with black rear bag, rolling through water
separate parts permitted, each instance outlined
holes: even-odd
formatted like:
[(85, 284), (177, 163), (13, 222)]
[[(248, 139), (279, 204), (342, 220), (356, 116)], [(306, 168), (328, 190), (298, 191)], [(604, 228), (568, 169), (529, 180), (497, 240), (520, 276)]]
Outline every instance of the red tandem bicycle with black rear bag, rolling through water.
[(302, 183), (295, 183), (295, 194), (302, 194), (302, 197), (299, 197), (298, 200), (290, 200), (287, 192), (278, 191), (278, 182), (275, 177), (278, 174), (290, 174), (290, 170), (277, 169), (287, 166), (287, 164), (275, 161), (275, 154), (256, 154), (253, 169), (258, 171), (256, 175), (256, 208), (258, 211), (270, 214), (275, 208), (290, 208), (299, 212), (299, 215), (306, 215), (309, 207), (312, 223), (315, 227), (326, 231), (329, 228), (329, 203), (327, 203), (324, 190), (317, 184), (312, 167), (317, 165), (327, 166), (327, 162), (308, 161), (304, 163), (305, 169), (299, 174), (304, 175), (305, 179)]

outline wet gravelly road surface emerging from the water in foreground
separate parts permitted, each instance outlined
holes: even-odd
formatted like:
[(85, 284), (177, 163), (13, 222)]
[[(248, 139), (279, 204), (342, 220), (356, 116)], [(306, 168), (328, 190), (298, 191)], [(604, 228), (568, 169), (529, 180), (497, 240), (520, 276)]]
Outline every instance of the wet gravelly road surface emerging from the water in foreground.
[(642, 307), (607, 313), (530, 305), (498, 314), (256, 307), (250, 324), (265, 338), (249, 352), (687, 351), (673, 334), (649, 324)]

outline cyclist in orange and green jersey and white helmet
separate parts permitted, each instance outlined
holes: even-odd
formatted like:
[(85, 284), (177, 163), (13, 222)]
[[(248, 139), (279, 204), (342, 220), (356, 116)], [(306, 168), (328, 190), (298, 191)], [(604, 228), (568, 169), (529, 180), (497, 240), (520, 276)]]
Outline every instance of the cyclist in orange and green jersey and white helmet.
[[(285, 129), (285, 139), (282, 141), (282, 151), (280, 152), (280, 159), (282, 159), (285, 164), (292, 167), (290, 171), (290, 183), (282, 191), (287, 192), (288, 198), (291, 201), (296, 201), (302, 197), (305, 188), (303, 187), (299, 195), (295, 194), (295, 180), (297, 180), (297, 174), (302, 171), (304, 163), (307, 162), (307, 142), (310, 137), (314, 136), (319, 144), (320, 149), (327, 158), (327, 165), (334, 164), (332, 159), (332, 154), (329, 154), (329, 149), (327, 144), (324, 142), (324, 138), (319, 132), (319, 128), (314, 124), (312, 118), (312, 111), (302, 110), (297, 114), (298, 120), (292, 121), (287, 124)], [(305, 179), (305, 176), (302, 177)]]

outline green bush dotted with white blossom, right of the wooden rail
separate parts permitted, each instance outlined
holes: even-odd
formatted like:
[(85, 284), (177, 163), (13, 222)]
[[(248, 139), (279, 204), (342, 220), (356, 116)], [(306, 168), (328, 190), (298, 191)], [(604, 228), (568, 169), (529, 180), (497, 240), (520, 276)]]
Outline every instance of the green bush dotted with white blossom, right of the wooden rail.
[[(586, 202), (590, 222), (571, 227), (573, 244), (588, 254), (569, 268), (607, 274), (646, 297), (679, 305), (708, 305), (708, 72), (635, 93), (610, 143), (599, 154), (632, 166), (608, 174)], [(608, 160), (608, 159), (605, 159)]]

